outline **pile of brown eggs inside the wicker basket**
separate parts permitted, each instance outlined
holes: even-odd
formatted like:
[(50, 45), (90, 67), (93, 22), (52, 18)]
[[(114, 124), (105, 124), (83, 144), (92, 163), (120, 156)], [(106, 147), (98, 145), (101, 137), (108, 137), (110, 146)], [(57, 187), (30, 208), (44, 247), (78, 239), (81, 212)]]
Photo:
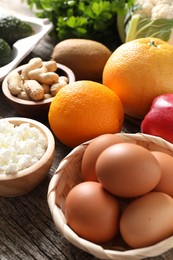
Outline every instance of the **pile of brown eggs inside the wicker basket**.
[(141, 248), (168, 238), (173, 235), (172, 169), (173, 158), (166, 153), (113, 134), (93, 139), (81, 162), (83, 182), (66, 197), (67, 224), (98, 244), (120, 235), (129, 247)]

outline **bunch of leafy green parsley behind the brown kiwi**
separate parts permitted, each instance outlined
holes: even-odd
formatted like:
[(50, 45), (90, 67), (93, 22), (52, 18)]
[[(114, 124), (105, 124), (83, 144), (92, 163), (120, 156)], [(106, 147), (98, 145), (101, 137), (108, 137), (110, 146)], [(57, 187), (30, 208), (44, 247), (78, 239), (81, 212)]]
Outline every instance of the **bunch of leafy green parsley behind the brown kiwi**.
[(133, 0), (27, 0), (36, 15), (49, 18), (58, 41), (84, 38), (99, 41), (114, 49), (120, 44), (117, 14), (125, 14)]

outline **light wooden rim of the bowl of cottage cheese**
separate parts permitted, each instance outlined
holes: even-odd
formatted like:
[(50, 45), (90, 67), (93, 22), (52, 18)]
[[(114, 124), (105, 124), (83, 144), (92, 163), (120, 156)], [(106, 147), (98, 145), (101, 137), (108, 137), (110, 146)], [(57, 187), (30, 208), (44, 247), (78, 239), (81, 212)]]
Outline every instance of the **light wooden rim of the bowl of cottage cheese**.
[(22, 123), (29, 123), (31, 126), (36, 127), (37, 129), (41, 130), (41, 132), (44, 132), (46, 141), (47, 141), (47, 148), (44, 153), (44, 155), (33, 165), (18, 171), (17, 173), (12, 173), (12, 174), (4, 174), (0, 173), (0, 181), (7, 181), (7, 180), (14, 180), (18, 178), (22, 178), (24, 176), (30, 175), (32, 172), (38, 170), (44, 162), (49, 159), (49, 157), (52, 156), (52, 154), (55, 151), (55, 139), (52, 134), (52, 132), (49, 130), (47, 126), (44, 124), (40, 123), (37, 120), (30, 119), (30, 118), (25, 118), (25, 117), (6, 117), (6, 118), (0, 118), (0, 120), (6, 120), (9, 121), (12, 124), (15, 124), (15, 122), (18, 122), (17, 125), (20, 125)]

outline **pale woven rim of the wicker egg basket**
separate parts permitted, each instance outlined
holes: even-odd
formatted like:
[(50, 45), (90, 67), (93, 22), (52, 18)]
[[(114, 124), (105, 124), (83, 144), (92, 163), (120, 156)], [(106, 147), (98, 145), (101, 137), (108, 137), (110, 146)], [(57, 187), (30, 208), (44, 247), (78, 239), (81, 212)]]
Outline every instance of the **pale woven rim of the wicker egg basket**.
[[(173, 144), (160, 137), (142, 133), (117, 133), (116, 135), (124, 137), (126, 141), (131, 140), (132, 142), (135, 142), (136, 139), (139, 142), (150, 141), (148, 148), (152, 149), (155, 147), (155, 145), (159, 145), (163, 149), (170, 151), (173, 156)], [(57, 230), (74, 246), (85, 252), (89, 252), (99, 259), (119, 260), (120, 257), (122, 260), (144, 259), (146, 257), (161, 255), (164, 252), (170, 250), (173, 247), (173, 235), (148, 247), (137, 249), (130, 248), (121, 251), (118, 249), (105, 249), (99, 244), (95, 244), (84, 238), (81, 238), (67, 225), (61, 207), (56, 204), (57, 185), (63, 176), (63, 169), (72, 161), (73, 156), (75, 157), (81, 153), (84, 153), (86, 147), (91, 141), (92, 140), (89, 140), (75, 147), (66, 157), (64, 157), (64, 159), (60, 162), (55, 174), (50, 180), (47, 192), (47, 201)]]

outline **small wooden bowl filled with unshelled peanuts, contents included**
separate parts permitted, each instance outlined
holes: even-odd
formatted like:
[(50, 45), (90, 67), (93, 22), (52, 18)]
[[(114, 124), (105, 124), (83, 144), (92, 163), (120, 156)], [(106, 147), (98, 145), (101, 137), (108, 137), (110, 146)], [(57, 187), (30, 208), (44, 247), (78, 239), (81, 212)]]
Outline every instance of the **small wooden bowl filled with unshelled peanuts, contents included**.
[(53, 97), (61, 87), (74, 81), (70, 68), (36, 57), (5, 77), (2, 92), (17, 114), (45, 121)]

